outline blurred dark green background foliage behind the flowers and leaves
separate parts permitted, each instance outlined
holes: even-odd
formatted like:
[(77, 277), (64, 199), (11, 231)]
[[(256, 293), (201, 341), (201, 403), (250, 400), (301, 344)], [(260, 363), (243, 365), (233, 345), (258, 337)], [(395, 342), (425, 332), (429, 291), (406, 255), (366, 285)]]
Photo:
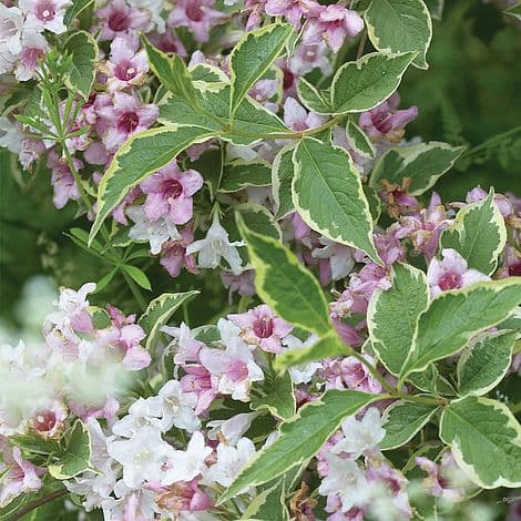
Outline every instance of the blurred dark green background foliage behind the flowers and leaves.
[[(408, 126), (407, 136), (469, 145), (468, 160), (436, 187), (446, 201), (462, 200), (477, 184), (521, 195), (521, 130), (513, 131), (521, 120), (521, 30), (505, 23), (493, 6), (479, 0), (446, 3), (442, 21), (433, 22), (430, 70), (409, 70), (400, 88), (402, 105), (419, 108), (419, 118)], [(503, 139), (492, 139), (507, 132), (510, 134)], [(488, 144), (476, 149), (482, 143)], [(14, 326), (23, 318), (17, 315), (16, 303), (29, 277), (44, 273), (59, 284), (78, 287), (99, 280), (109, 268), (64, 235), (72, 226), (86, 229), (89, 223), (74, 219), (72, 205), (54, 210), (44, 167), (22, 174), (2, 149), (0, 175), (0, 320)], [(226, 293), (217, 274), (184, 274), (172, 279), (154, 266), (150, 275), (154, 295), (205, 285), (204, 306), (197, 299), (190, 305), (195, 323), (211, 320), (222, 311)], [(96, 299), (136, 311), (123, 280), (115, 279), (91, 300)]]

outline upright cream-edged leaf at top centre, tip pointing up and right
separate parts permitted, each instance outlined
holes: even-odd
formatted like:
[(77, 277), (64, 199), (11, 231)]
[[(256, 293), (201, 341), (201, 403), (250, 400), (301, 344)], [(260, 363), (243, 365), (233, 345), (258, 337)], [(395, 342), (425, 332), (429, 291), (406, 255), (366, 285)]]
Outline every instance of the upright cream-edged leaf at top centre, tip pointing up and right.
[(292, 32), (293, 28), (287, 23), (273, 23), (247, 32), (235, 45), (229, 55), (231, 120), (234, 119), (237, 106), (249, 89), (264, 75), (284, 50)]

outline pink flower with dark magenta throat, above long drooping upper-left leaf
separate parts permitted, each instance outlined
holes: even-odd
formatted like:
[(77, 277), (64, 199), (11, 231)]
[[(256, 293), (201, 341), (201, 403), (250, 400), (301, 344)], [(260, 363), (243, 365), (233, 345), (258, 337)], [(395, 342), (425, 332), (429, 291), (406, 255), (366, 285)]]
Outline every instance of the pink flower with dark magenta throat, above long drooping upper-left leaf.
[(112, 104), (101, 106), (96, 112), (106, 129), (103, 143), (109, 152), (115, 152), (132, 134), (152, 125), (160, 110), (154, 104), (140, 105), (131, 94), (114, 92)]

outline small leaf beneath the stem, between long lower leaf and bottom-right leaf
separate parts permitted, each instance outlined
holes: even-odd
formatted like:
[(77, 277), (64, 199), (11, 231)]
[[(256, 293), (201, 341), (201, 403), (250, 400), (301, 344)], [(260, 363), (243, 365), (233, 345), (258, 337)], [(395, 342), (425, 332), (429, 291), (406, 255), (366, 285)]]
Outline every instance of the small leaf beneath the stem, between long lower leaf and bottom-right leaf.
[(412, 439), (439, 408), (411, 401), (395, 401), (384, 415), (386, 437), (378, 443), (381, 450), (397, 449)]

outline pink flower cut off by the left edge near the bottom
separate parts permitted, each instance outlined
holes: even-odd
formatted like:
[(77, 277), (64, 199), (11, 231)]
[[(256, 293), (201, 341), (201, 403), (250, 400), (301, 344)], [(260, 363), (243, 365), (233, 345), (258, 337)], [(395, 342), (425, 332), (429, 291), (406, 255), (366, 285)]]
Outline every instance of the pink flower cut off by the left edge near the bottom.
[(22, 459), (18, 447), (11, 448), (7, 438), (0, 437), (2, 461), (0, 462), (0, 508), (7, 505), (17, 496), (34, 492), (42, 486), (39, 478), (45, 471)]

